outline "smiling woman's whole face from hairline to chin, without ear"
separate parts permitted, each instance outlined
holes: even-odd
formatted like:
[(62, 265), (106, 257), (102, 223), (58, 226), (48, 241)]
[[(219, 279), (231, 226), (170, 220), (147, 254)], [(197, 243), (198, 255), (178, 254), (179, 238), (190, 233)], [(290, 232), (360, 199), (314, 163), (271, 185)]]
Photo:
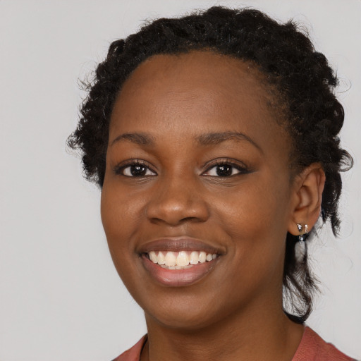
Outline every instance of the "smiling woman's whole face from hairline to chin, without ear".
[(118, 95), (102, 221), (148, 322), (196, 329), (281, 310), (290, 141), (260, 79), (193, 51), (145, 61)]

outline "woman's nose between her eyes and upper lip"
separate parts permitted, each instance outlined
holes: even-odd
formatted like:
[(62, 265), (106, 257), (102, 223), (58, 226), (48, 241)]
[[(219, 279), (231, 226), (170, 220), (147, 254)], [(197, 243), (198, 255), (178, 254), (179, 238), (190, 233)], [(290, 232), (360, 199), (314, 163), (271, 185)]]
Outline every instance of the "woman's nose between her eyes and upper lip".
[(148, 219), (170, 226), (187, 221), (207, 221), (209, 207), (202, 190), (195, 183), (182, 176), (159, 181), (147, 204)]

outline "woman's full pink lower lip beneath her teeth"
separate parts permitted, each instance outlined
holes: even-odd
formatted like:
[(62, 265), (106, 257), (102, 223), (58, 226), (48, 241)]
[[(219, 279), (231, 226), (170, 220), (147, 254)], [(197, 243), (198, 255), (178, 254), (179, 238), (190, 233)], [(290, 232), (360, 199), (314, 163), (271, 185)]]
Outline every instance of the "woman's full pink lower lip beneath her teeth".
[(198, 263), (186, 269), (166, 269), (142, 255), (142, 262), (145, 269), (153, 279), (165, 286), (181, 287), (189, 286), (203, 279), (211, 271), (219, 257), (209, 262)]

